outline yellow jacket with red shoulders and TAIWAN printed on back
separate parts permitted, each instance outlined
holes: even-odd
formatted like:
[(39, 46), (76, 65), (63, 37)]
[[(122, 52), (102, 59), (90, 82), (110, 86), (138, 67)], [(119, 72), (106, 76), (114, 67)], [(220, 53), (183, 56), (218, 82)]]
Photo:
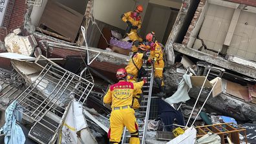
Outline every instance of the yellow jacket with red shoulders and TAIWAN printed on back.
[(134, 90), (142, 88), (144, 81), (132, 83), (129, 81), (119, 81), (109, 87), (107, 94), (103, 98), (104, 103), (112, 103), (111, 107), (131, 106), (133, 102)]

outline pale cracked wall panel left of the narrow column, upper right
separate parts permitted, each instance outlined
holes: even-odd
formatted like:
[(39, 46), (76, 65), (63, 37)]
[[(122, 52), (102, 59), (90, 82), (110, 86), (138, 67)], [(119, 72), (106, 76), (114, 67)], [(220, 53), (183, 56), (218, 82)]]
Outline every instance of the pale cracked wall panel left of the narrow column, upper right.
[[(199, 32), (199, 37), (204, 39), (204, 43), (209, 49), (221, 50), (234, 10), (225, 6), (209, 4), (204, 23)], [(197, 39), (193, 48), (198, 49), (201, 45), (200, 40)], [(202, 50), (202, 52), (205, 51)], [(207, 53), (213, 54), (212, 52)]]

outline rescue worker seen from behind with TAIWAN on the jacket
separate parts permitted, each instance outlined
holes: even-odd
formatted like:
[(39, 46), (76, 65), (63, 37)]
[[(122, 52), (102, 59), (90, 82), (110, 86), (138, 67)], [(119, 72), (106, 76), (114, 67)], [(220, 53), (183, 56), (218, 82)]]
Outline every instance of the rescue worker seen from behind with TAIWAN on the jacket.
[(111, 103), (110, 127), (108, 132), (109, 142), (118, 144), (121, 141), (123, 127), (127, 127), (131, 134), (130, 144), (139, 144), (138, 123), (131, 108), (134, 90), (142, 88), (146, 79), (138, 83), (127, 81), (127, 72), (124, 68), (118, 69), (116, 77), (118, 83), (111, 85), (103, 98), (104, 103)]

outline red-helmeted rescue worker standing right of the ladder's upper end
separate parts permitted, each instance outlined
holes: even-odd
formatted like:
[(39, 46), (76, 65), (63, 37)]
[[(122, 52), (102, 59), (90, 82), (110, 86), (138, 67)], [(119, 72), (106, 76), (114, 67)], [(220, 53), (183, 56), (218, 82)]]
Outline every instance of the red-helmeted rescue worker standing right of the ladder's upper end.
[[(155, 32), (150, 32), (146, 36), (146, 40), (149, 42), (150, 46), (150, 59), (155, 61), (155, 81), (160, 88), (160, 94), (158, 96), (165, 96), (165, 87), (163, 79), (163, 70), (164, 70), (164, 52), (162, 46), (156, 41)], [(149, 63), (151, 61), (149, 60)]]

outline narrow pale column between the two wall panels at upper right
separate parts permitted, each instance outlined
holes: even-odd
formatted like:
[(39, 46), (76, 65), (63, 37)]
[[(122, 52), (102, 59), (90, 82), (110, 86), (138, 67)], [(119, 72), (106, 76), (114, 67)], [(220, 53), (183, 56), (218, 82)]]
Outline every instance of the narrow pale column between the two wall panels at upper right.
[(237, 21), (239, 19), (240, 12), (241, 12), (240, 8), (235, 9), (233, 17), (231, 19), (231, 23), (230, 23), (229, 28), (228, 28), (227, 36), (226, 36), (225, 41), (224, 41), (224, 45), (226, 45), (226, 46), (229, 46), (230, 43), (231, 43), (233, 34), (235, 32), (235, 27), (237, 26)]

